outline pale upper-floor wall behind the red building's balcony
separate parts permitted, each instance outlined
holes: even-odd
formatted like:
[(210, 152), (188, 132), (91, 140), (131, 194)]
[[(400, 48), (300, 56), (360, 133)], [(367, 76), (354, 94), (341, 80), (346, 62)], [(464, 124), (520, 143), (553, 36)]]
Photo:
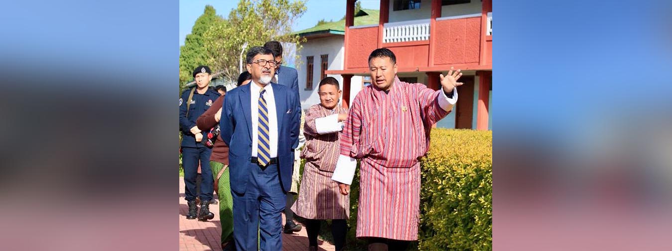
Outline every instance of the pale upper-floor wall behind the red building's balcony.
[[(438, 0), (437, 0), (438, 1)], [(390, 1), (390, 23), (395, 21), (409, 21), (415, 19), (427, 19), (431, 17), (431, 1), (422, 1), (420, 9), (405, 9), (403, 11), (393, 11), (394, 0)], [(454, 15), (467, 15), (480, 13), (480, 0), (471, 0), (471, 3), (460, 3), (456, 5), (444, 5), (441, 7), (441, 17), (451, 17)]]

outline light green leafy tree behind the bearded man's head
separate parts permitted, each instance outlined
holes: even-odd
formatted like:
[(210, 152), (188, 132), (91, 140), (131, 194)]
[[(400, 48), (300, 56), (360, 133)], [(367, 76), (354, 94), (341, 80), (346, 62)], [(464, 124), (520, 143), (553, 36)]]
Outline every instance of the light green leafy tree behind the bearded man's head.
[(270, 40), (293, 43), (296, 44), (296, 50), (300, 50), (300, 43), (305, 40), (291, 34), (292, 24), (305, 11), (304, 0), (239, 1), (236, 9), (228, 14), (226, 21), (216, 22), (204, 34), (208, 65), (222, 70), (224, 79), (235, 81), (240, 74), (239, 56), (245, 42), (248, 44), (246, 50), (253, 46), (263, 46)]

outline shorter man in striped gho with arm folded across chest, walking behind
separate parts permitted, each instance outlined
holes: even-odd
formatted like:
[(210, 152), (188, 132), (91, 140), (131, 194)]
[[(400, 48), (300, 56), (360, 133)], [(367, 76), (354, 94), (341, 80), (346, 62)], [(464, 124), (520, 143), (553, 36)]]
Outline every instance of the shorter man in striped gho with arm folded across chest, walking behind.
[(347, 108), (338, 105), (341, 97), (339, 83), (333, 77), (320, 81), (320, 103), (306, 113), (303, 132), (306, 145), (301, 158), (306, 160), (298, 199), (292, 211), (306, 219), (308, 250), (317, 251), (317, 234), (321, 221), (331, 219), (331, 234), (336, 251), (343, 250), (347, 219), (350, 217), (350, 197), (339, 193), (338, 184), (331, 180), (341, 152), (339, 137)]

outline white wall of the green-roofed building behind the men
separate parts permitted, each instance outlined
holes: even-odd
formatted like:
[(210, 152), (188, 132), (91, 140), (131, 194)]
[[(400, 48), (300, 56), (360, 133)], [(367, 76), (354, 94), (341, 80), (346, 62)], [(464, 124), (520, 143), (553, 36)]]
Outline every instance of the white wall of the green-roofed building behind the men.
[[(320, 97), (317, 94), (317, 87), (322, 80), (321, 77), (321, 55), (329, 55), (329, 70), (343, 70), (343, 36), (331, 36), (327, 38), (317, 38), (308, 40), (303, 44), (303, 48), (298, 52), (300, 59), (298, 66), (298, 90), (301, 100), (301, 108), (308, 109), (311, 105), (320, 103)], [(312, 90), (306, 90), (306, 56), (312, 56)], [(327, 77), (334, 77), (343, 89), (343, 77), (339, 74), (327, 74)], [(362, 88), (362, 77), (352, 77), (350, 87), (350, 99), (354, 99), (355, 95)]]

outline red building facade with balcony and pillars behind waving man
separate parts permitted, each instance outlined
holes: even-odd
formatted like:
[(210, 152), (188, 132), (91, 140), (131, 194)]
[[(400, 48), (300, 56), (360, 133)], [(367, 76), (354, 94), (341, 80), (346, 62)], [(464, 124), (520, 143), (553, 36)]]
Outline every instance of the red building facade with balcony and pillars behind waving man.
[(346, 1), (343, 78), (348, 106), (351, 79), (368, 76), (368, 56), (376, 48), (396, 54), (398, 77), (439, 89), (439, 74), (451, 66), (464, 72), (455, 110), (437, 123), (444, 128), (491, 130), (492, 1), (381, 0), (377, 24), (353, 26), (355, 0)]

